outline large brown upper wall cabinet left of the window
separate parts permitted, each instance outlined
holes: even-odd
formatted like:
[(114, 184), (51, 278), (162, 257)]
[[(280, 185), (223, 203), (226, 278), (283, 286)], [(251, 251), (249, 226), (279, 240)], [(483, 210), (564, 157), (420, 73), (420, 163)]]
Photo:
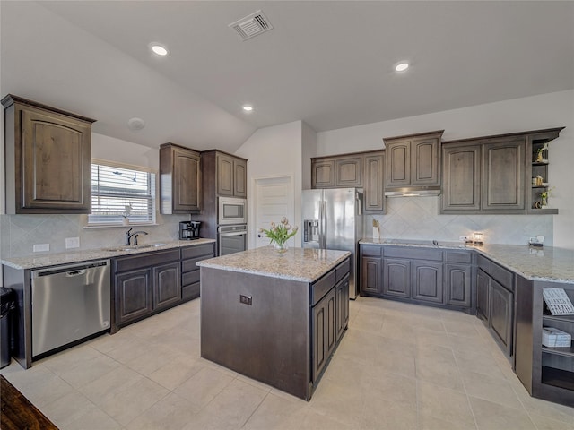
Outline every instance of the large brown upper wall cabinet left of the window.
[(7, 95), (6, 213), (90, 213), (95, 121)]

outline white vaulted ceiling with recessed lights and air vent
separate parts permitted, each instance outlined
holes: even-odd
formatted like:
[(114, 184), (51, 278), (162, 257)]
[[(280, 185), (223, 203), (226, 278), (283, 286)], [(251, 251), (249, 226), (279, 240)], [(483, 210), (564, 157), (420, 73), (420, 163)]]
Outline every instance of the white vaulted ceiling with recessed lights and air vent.
[[(273, 30), (228, 27), (258, 10)], [(569, 1), (2, 0), (0, 15), (2, 96), (152, 148), (232, 152), (295, 120), (321, 132), (574, 88)]]

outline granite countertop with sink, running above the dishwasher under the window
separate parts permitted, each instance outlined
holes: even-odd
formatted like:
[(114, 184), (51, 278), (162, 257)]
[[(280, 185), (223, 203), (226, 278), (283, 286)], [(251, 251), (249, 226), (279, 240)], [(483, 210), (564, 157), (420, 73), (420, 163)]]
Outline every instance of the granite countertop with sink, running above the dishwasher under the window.
[(39, 254), (25, 257), (13, 257), (0, 260), (2, 264), (10, 266), (13, 269), (38, 269), (41, 267), (56, 266), (58, 264), (67, 264), (70, 262), (87, 262), (90, 260), (101, 260), (125, 255), (151, 253), (165, 249), (178, 248), (182, 246), (195, 246), (210, 244), (215, 242), (214, 239), (196, 239), (196, 240), (175, 240), (170, 242), (161, 242), (158, 244), (141, 244), (130, 246), (129, 250), (122, 250), (124, 245), (109, 246), (100, 249), (84, 249), (58, 254)]

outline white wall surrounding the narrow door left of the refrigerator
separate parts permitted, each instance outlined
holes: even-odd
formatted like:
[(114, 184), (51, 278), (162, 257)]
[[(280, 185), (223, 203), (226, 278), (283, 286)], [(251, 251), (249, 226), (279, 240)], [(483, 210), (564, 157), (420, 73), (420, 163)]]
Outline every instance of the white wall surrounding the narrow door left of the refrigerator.
[[(254, 195), (256, 179), (292, 176), (295, 199), (292, 224), (301, 227), (302, 127), (301, 121), (295, 121), (259, 129), (235, 152), (235, 155), (248, 159), (248, 219), (255, 219), (251, 196)], [(257, 229), (258, 226), (248, 223), (249, 247), (255, 243), (254, 235)], [(300, 233), (293, 237), (293, 243), (300, 245)]]

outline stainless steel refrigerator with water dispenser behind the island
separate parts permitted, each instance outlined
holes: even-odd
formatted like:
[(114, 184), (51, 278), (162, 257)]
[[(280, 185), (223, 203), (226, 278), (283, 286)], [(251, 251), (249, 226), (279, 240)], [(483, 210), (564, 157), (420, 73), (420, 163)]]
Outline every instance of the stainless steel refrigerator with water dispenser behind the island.
[(304, 248), (338, 249), (351, 252), (349, 297), (357, 297), (355, 271), (362, 238), (362, 190), (328, 188), (301, 193)]

